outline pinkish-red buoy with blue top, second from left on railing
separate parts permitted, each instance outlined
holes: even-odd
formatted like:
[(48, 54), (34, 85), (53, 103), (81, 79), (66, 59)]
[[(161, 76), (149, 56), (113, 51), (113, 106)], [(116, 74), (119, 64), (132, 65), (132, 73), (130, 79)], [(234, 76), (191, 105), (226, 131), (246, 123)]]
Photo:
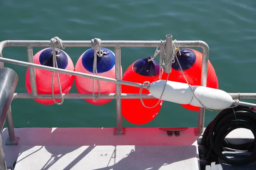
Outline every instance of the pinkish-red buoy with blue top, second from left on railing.
[[(115, 69), (115, 54), (108, 48), (101, 47), (103, 52), (102, 57), (97, 56), (96, 69), (98, 76), (116, 78), (116, 69)], [(90, 48), (85, 51), (76, 62), (75, 71), (93, 74), (93, 60), (94, 60), (94, 49)], [(122, 67), (121, 67), (122, 72)], [(94, 89), (93, 89), (94, 81)], [(99, 80), (99, 87), (96, 79), (90, 79), (85, 77), (75, 77), (75, 84), (77, 91), (80, 94), (95, 94), (95, 98), (99, 94), (111, 94), (116, 93), (116, 84), (113, 82), (106, 82)], [(93, 99), (84, 99), (93, 105), (104, 105), (110, 102), (112, 99), (98, 99), (96, 102)]]

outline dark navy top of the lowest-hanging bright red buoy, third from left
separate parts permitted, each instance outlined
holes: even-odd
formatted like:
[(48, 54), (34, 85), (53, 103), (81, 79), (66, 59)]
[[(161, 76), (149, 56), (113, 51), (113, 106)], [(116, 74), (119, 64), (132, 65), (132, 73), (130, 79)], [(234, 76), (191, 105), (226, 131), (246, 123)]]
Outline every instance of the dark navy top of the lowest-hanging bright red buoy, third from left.
[(137, 74), (142, 76), (154, 77), (159, 75), (160, 65), (156, 60), (148, 61), (152, 57), (149, 56), (147, 58), (137, 60), (134, 65), (133, 69)]

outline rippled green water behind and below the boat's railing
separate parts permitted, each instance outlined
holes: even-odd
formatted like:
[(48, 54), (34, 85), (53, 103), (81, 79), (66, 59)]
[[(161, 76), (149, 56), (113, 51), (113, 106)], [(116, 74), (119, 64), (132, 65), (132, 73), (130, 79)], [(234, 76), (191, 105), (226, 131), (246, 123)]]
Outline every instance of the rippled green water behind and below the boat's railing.
[[(203, 40), (219, 88), (255, 92), (255, 0), (1, 0), (0, 41), (50, 40)], [(33, 48), (34, 54), (42, 48)], [(88, 48), (66, 48), (74, 64)], [(113, 50), (113, 48), (110, 48)], [(201, 50), (200, 48), (195, 48)], [(152, 56), (155, 48), (122, 48), (123, 72), (135, 60)], [(8, 47), (3, 57), (27, 61), (26, 48)], [(157, 59), (158, 60), (158, 59)], [(26, 93), (26, 68), (5, 64), (19, 75), (16, 92)], [(77, 93), (75, 85), (70, 93)], [(256, 102), (251, 100), (251, 102)], [(115, 100), (91, 105), (84, 100), (40, 105), (32, 99), (12, 102), (15, 127), (113, 127)], [(206, 111), (205, 126), (217, 113)], [(136, 127), (123, 119), (125, 127)], [(143, 127), (196, 127), (198, 112), (164, 102), (157, 117)]]

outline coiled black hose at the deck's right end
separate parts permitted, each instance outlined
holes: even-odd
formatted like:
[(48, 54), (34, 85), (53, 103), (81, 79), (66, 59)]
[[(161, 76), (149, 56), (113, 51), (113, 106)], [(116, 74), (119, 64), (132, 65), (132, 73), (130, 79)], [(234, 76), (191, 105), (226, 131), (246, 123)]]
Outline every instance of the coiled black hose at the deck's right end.
[[(222, 110), (212, 122), (206, 127), (202, 145), (209, 151), (205, 156), (206, 160), (214, 154), (229, 164), (250, 164), (256, 161), (255, 140), (245, 144), (230, 144), (225, 139), (228, 133), (237, 128), (246, 128), (252, 131), (256, 139), (256, 113), (249, 107), (237, 106)], [(231, 160), (223, 155), (223, 151), (248, 151), (250, 156), (240, 160)]]

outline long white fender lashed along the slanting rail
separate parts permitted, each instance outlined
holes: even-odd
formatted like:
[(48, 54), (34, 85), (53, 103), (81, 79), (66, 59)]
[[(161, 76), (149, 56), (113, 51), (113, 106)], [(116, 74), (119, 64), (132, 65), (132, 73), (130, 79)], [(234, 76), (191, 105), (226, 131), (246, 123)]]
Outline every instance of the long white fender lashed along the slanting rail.
[[(166, 80), (157, 80), (150, 84), (149, 92), (152, 96), (160, 99)], [(232, 97), (225, 91), (207, 88), (204, 86), (191, 86), (200, 102), (209, 109), (225, 109), (232, 105)], [(162, 100), (179, 104), (190, 104), (197, 107), (204, 107), (193, 95), (189, 85), (181, 82), (167, 81)]]

